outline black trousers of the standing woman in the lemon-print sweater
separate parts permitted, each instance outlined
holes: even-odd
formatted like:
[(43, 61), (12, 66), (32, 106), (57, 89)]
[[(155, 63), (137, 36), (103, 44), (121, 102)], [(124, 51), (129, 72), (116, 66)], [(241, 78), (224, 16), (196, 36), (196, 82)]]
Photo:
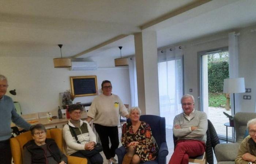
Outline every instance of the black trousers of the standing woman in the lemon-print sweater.
[[(99, 134), (101, 139), (101, 145), (103, 148), (103, 153), (106, 159), (110, 159), (116, 155), (115, 150), (119, 145), (118, 128), (117, 126), (103, 126), (99, 124), (94, 124), (96, 132)], [(109, 138), (111, 142), (111, 147), (109, 148)]]

